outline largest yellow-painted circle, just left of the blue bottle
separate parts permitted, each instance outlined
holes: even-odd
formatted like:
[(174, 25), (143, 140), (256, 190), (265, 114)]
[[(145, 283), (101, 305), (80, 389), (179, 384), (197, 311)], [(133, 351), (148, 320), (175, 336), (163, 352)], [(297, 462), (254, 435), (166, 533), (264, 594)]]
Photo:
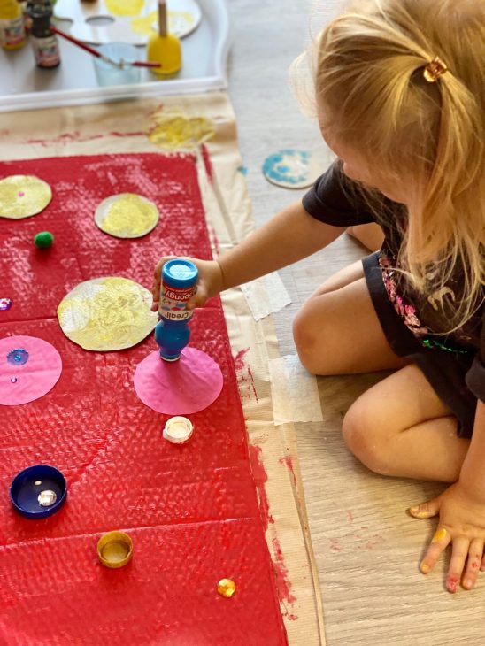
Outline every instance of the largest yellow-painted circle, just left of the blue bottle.
[(127, 278), (105, 276), (73, 288), (58, 306), (60, 327), (84, 350), (122, 350), (141, 342), (157, 325), (151, 293)]

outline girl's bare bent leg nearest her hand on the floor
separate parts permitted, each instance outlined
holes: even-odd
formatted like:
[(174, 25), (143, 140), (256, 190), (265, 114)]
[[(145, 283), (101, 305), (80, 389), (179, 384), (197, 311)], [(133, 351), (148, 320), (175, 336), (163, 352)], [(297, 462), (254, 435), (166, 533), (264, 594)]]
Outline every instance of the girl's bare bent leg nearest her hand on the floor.
[(343, 419), (343, 438), (369, 469), (383, 475), (458, 480), (470, 441), (417, 365), (367, 390)]

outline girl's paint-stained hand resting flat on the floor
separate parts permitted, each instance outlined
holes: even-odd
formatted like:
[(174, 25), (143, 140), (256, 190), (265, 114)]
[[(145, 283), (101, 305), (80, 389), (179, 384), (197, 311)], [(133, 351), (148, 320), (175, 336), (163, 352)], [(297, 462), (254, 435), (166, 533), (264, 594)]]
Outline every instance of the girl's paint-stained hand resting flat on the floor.
[(458, 481), (440, 496), (409, 511), (417, 519), (437, 514), (440, 517), (435, 535), (421, 561), (421, 572), (431, 572), (443, 550), (452, 543), (446, 589), (456, 592), (460, 581), (464, 588), (473, 588), (479, 570), (485, 570), (485, 500), (473, 496)]

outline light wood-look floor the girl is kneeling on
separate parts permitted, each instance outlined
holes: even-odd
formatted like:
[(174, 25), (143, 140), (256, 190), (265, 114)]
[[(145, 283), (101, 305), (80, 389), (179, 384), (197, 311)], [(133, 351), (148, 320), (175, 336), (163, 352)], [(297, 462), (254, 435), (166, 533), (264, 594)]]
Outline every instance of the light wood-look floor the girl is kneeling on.
[[(281, 148), (324, 153), (316, 124), (301, 114), (288, 83), (289, 64), (308, 42), (312, 4), (309, 0), (228, 0), (228, 4), (234, 38), (229, 95), (248, 168), (254, 219), (262, 224), (302, 195), (266, 182), (260, 172), (266, 156)], [(338, 3), (320, 0), (318, 6), (315, 18), (322, 24)], [(293, 301), (275, 315), (281, 355), (295, 352), (291, 320), (299, 305), (331, 273), (364, 253), (344, 235), (327, 250), (281, 272)], [(296, 425), (327, 645), (481, 646), (485, 573), (475, 590), (460, 589), (452, 596), (443, 587), (449, 555), (427, 577), (418, 570), (435, 520), (415, 520), (405, 510), (443, 487), (374, 475), (343, 444), (344, 412), (382, 376), (319, 378), (324, 422)]]

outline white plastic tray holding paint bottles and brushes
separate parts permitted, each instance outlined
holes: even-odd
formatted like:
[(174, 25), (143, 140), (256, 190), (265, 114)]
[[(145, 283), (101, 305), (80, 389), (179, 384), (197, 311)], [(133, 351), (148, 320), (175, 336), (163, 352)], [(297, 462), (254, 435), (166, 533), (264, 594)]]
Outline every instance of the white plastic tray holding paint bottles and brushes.
[[(79, 0), (78, 0), (79, 1)], [(226, 0), (197, 0), (202, 20), (182, 39), (181, 72), (159, 81), (142, 68), (136, 85), (100, 88), (93, 56), (59, 37), (61, 64), (55, 69), (35, 66), (34, 51), (27, 42), (21, 50), (0, 51), (0, 112), (35, 110), (58, 105), (104, 103), (123, 98), (196, 94), (227, 88), (229, 17)], [(59, 23), (59, 28), (66, 31)]]

